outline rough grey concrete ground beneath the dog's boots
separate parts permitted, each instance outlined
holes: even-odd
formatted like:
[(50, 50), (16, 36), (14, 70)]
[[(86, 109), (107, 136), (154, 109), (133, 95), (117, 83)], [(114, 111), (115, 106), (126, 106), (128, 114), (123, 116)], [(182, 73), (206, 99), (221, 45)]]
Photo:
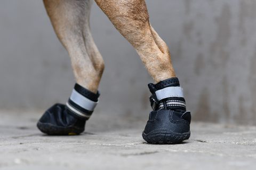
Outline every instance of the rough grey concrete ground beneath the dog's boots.
[[(152, 145), (147, 119), (94, 114), (77, 136), (49, 136), (42, 113), (1, 111), (0, 169), (255, 169), (256, 127), (192, 122), (181, 144)], [(110, 115), (110, 114), (109, 114)]]

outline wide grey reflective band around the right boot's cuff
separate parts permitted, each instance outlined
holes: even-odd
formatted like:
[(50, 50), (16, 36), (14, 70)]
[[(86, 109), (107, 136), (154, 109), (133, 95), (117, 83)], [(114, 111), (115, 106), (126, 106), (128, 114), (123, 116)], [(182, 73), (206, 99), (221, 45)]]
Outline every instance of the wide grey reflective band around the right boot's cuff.
[(172, 97), (184, 98), (183, 88), (181, 87), (165, 87), (155, 93), (158, 100)]

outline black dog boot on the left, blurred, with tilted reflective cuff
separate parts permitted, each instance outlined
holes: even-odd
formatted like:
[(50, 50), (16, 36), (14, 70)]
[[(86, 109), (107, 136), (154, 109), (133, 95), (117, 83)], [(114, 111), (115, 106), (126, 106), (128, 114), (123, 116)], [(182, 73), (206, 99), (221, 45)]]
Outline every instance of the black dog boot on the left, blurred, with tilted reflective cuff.
[(46, 110), (37, 127), (49, 135), (76, 135), (85, 129), (85, 122), (90, 118), (98, 103), (99, 92), (92, 93), (75, 84), (73, 92), (66, 103), (54, 104)]

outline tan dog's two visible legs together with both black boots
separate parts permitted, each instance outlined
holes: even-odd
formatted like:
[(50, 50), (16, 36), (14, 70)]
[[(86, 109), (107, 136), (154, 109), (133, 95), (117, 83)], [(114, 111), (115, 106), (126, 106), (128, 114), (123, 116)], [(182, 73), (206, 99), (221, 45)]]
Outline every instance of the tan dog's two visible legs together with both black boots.
[[(169, 48), (149, 22), (144, 0), (95, 0), (115, 28), (140, 55), (155, 84), (153, 111), (142, 133), (152, 144), (180, 143), (190, 136), (190, 111), (179, 80), (175, 77)], [(76, 84), (66, 104), (47, 109), (37, 127), (49, 135), (82, 133), (85, 123), (99, 102), (98, 86), (105, 68), (93, 42), (89, 15), (92, 0), (44, 0), (45, 9), (60, 42), (69, 53)]]

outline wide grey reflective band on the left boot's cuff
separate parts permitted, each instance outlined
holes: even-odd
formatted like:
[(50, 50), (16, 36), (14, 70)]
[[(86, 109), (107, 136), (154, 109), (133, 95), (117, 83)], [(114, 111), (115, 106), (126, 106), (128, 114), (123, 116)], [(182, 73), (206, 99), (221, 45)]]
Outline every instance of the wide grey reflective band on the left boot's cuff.
[(78, 106), (93, 111), (95, 106), (98, 104), (98, 102), (91, 101), (87, 98), (85, 98), (83, 95), (79, 94), (75, 89), (73, 89), (73, 92), (70, 96), (70, 100), (72, 100), (74, 103), (76, 103)]

